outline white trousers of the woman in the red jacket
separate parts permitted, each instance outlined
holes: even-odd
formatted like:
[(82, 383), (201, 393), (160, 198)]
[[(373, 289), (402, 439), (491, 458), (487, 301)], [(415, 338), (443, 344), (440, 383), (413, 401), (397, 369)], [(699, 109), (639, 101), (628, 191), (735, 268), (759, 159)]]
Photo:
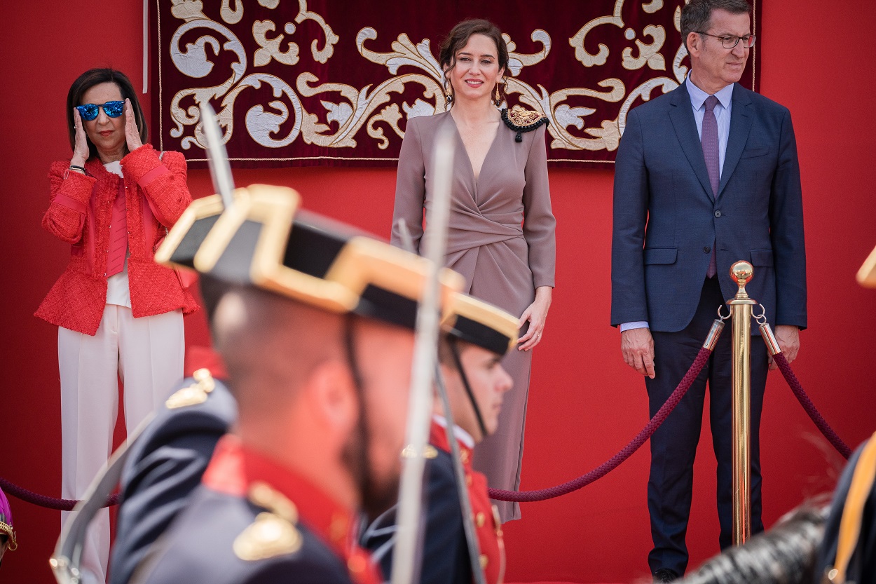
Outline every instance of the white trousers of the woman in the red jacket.
[[(63, 498), (81, 498), (109, 459), (118, 379), (131, 432), (182, 379), (184, 353), (181, 310), (134, 318), (130, 308), (107, 304), (94, 337), (58, 328)], [(62, 524), (69, 515), (61, 513)], [(102, 509), (82, 552), (84, 584), (104, 584), (108, 561), (109, 509)]]

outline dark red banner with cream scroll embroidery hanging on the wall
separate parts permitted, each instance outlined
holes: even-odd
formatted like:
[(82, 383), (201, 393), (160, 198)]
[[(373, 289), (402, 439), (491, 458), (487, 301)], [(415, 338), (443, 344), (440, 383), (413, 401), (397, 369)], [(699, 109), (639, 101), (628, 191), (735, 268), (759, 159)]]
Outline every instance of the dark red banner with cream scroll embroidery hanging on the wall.
[[(762, 0), (752, 0), (759, 34)], [(489, 18), (511, 51), (507, 104), (538, 110), (553, 166), (614, 160), (626, 114), (689, 68), (683, 0), (152, 0), (152, 136), (206, 164), (208, 100), (234, 167), (393, 166), (406, 119), (445, 109), (438, 48)], [(758, 89), (759, 46), (742, 83)]]

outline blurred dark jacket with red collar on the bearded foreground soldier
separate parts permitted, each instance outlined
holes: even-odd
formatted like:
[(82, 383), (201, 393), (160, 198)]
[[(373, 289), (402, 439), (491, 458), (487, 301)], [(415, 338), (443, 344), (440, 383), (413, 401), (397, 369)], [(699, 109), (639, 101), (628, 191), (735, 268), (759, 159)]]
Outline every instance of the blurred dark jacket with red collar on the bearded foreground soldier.
[(353, 509), (226, 434), (201, 486), (146, 552), (144, 584), (379, 584)]

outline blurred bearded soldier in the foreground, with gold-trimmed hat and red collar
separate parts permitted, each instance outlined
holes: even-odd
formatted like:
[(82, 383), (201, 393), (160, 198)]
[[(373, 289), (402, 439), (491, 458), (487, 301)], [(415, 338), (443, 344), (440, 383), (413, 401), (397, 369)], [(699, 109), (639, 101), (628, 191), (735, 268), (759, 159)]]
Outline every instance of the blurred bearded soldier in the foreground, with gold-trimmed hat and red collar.
[[(290, 189), (240, 190), (194, 255), (237, 421), (130, 581), (379, 581), (355, 514), (397, 495), (427, 262), (298, 211)], [(442, 298), (461, 284), (445, 272)]]

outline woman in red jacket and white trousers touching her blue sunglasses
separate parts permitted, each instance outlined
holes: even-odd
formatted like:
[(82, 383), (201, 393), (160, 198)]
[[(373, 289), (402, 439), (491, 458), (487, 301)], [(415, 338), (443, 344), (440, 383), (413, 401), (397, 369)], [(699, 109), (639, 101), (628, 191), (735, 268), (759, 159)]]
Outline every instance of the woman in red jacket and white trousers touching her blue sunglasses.
[[(70, 263), (36, 315), (59, 327), (61, 493), (78, 499), (109, 457), (118, 379), (132, 431), (182, 378), (182, 315), (197, 304), (152, 260), (192, 201), (186, 160), (145, 144), (129, 79), (109, 68), (82, 74), (67, 93), (67, 129), (73, 158), (50, 169), (43, 227), (71, 245)], [(109, 514), (95, 523), (83, 566), (102, 582)]]

